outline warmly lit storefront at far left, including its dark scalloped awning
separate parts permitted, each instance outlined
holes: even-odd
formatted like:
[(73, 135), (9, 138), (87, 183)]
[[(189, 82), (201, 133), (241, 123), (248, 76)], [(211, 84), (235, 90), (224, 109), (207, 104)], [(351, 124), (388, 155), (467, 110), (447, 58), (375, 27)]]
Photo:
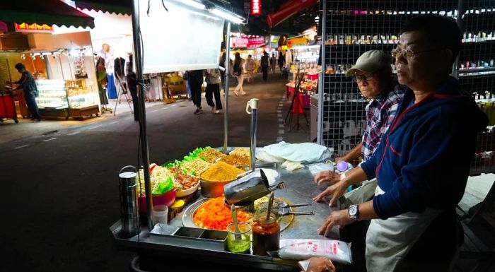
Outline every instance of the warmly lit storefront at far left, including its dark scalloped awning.
[[(35, 78), (42, 117), (98, 115), (100, 101), (89, 32), (53, 32), (57, 24), (94, 27), (93, 18), (61, 1), (50, 0), (46, 5), (32, 2), (23, 3), (26, 6), (11, 3), (0, 12), (6, 25), (1, 35), (0, 80), (17, 81), (20, 75), (13, 66), (22, 63)], [(13, 95), (17, 114), (28, 117), (23, 90), (7, 92), (12, 88), (16, 86), (0, 86), (2, 93)]]

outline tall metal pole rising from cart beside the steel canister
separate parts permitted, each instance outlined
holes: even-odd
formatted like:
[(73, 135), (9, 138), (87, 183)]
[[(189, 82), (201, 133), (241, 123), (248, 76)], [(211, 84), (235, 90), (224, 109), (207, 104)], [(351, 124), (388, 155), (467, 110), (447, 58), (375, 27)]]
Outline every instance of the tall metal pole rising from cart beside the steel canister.
[(143, 82), (143, 52), (141, 48), (141, 36), (139, 30), (139, 4), (132, 1), (132, 37), (134, 38), (134, 59), (136, 60), (137, 95), (139, 102), (139, 135), (141, 137), (141, 151), (143, 155), (144, 190), (146, 192), (146, 208), (148, 209), (148, 230), (153, 230), (153, 199), (151, 199), (151, 182), (149, 177), (149, 150), (148, 136), (146, 134), (146, 109), (144, 108)]

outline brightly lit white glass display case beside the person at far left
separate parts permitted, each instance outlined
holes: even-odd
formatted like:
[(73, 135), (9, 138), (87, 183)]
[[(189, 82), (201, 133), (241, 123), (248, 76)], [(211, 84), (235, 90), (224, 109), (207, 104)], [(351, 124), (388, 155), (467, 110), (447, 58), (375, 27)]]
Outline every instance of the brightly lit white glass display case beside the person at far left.
[(42, 117), (69, 118), (69, 100), (64, 81), (41, 79), (36, 81), (38, 97), (37, 107)]

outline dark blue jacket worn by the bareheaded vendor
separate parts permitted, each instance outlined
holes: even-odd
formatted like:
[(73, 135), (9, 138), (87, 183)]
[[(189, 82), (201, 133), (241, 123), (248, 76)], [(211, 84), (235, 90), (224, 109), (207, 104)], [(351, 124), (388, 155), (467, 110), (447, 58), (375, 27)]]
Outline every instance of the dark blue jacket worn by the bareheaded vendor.
[(361, 165), (385, 191), (373, 199), (382, 219), (454, 208), (464, 194), (477, 133), (487, 126), (487, 116), (453, 77), (408, 107), (413, 100), (409, 89), (380, 146)]

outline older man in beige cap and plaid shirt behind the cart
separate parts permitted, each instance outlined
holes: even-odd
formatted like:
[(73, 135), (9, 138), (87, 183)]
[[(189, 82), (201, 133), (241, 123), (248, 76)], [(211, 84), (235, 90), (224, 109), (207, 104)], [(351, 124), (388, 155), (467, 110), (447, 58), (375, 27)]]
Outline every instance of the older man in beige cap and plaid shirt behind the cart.
[[(363, 138), (355, 148), (349, 153), (337, 158), (336, 160), (344, 160), (351, 162), (359, 157), (366, 161), (372, 154), (375, 148), (380, 143), (380, 138), (388, 130), (397, 112), (402, 97), (404, 96), (395, 78), (392, 76), (392, 56), (380, 50), (371, 50), (361, 54), (356, 61), (356, 64), (346, 72), (346, 76), (353, 76), (354, 81), (358, 84), (361, 94), (368, 99), (366, 105), (366, 125), (363, 131)], [(334, 184), (340, 180), (340, 175), (326, 170), (319, 172), (315, 176), (315, 182), (330, 182)], [(376, 187), (376, 180), (372, 182), (363, 182), (363, 187), (358, 194), (352, 192), (345, 195), (347, 206), (352, 203), (362, 203), (370, 199)], [(330, 188), (330, 187), (329, 187)], [(328, 195), (328, 189), (322, 191), (316, 196), (314, 201), (321, 201)], [(334, 203), (332, 203), (334, 204)], [(341, 203), (343, 204), (343, 203)]]

